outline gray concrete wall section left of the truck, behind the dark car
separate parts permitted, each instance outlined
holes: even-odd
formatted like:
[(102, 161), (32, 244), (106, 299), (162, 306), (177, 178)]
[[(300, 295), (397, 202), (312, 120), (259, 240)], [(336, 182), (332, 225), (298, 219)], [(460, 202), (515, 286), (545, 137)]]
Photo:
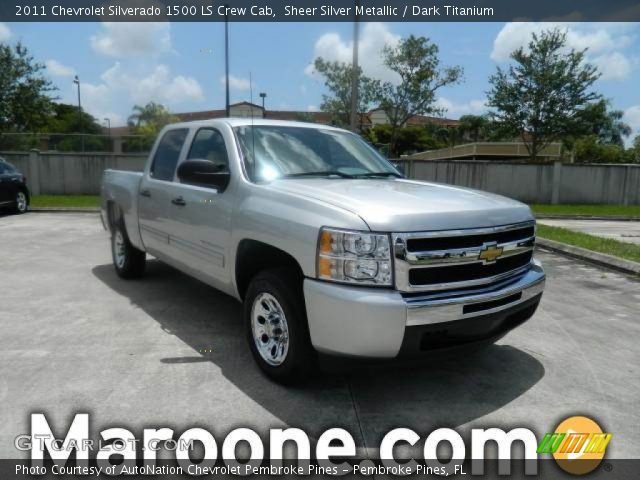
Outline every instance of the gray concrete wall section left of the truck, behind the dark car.
[(107, 168), (142, 171), (146, 154), (0, 152), (27, 177), (34, 195), (96, 195)]

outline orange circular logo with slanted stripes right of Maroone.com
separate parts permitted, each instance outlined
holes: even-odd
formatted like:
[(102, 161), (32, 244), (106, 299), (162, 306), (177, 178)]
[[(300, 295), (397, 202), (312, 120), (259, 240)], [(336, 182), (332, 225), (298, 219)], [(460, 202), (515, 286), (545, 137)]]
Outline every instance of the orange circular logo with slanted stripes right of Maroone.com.
[(600, 425), (587, 417), (569, 417), (556, 428), (558, 446), (553, 458), (565, 472), (584, 475), (600, 465), (611, 440)]

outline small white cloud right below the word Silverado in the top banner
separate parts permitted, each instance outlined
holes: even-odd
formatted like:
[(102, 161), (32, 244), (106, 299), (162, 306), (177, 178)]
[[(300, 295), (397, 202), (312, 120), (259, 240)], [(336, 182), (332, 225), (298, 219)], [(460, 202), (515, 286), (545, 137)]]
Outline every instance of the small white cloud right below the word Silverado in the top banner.
[(102, 31), (91, 37), (91, 47), (115, 58), (157, 55), (171, 51), (167, 22), (103, 22)]

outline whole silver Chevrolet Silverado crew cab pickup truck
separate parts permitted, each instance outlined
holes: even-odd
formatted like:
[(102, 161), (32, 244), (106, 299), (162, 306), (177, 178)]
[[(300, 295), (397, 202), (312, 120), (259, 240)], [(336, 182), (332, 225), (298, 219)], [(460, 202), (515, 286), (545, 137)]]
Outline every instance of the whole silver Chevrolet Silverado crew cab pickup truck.
[(528, 206), (406, 179), (315, 124), (167, 126), (144, 172), (105, 171), (101, 215), (120, 277), (149, 254), (243, 302), (253, 357), (279, 381), (317, 352), (490, 343), (534, 314), (545, 283)]

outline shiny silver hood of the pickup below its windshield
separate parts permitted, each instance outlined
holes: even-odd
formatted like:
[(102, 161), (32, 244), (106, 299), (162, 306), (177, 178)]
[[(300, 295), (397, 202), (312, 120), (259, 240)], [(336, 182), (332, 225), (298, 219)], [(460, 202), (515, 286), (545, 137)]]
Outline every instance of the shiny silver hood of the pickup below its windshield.
[(500, 195), (414, 180), (281, 179), (269, 187), (344, 208), (380, 232), (482, 228), (533, 219), (528, 206)]

